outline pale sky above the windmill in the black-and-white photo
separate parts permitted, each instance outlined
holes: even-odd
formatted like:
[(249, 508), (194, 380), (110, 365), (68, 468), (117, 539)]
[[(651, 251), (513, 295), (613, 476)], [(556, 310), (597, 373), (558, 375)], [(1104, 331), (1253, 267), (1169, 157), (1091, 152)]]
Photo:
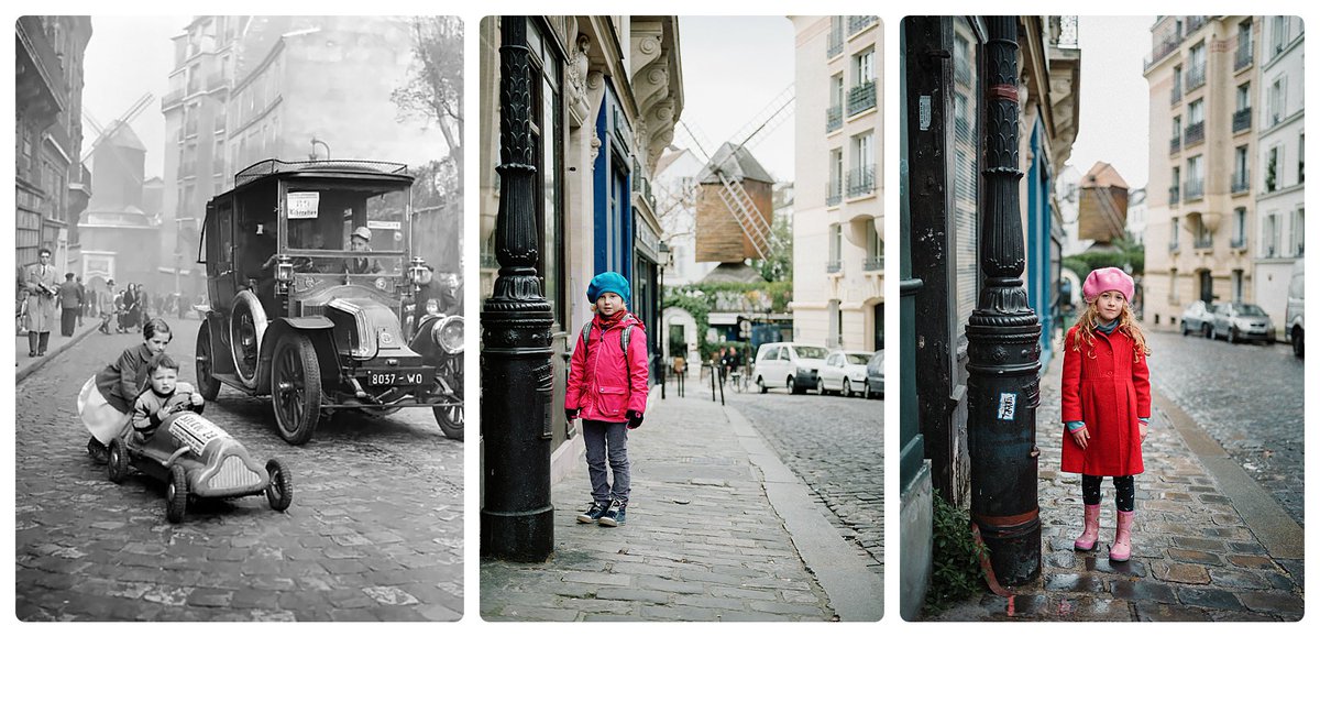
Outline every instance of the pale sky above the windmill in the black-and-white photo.
[[(147, 177), (164, 174), (165, 115), (161, 98), (174, 69), (170, 37), (183, 33), (191, 17), (91, 18), (91, 41), (83, 63), (83, 110), (102, 127), (117, 119), (145, 92), (152, 102), (129, 124), (147, 146)], [(83, 121), (83, 152), (96, 131)]]

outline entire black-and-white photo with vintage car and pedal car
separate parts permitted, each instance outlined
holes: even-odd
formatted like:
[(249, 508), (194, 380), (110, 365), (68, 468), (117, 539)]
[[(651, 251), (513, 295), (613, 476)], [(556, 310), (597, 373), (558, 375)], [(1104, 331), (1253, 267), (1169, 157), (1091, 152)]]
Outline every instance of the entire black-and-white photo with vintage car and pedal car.
[(17, 618), (459, 619), (461, 20), (15, 26)]

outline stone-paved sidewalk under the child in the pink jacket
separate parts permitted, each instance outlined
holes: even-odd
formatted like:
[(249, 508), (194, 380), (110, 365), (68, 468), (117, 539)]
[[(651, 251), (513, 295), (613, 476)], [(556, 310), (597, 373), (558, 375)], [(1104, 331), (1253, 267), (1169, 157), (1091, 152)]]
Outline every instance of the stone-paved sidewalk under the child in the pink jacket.
[[(805, 486), (783, 464), (781, 472), (775, 467), (774, 451), (737, 412), (696, 395), (671, 396), (630, 434), (628, 453), (627, 525), (577, 524), (590, 500), (579, 458), (553, 488), (550, 559), (482, 561), (483, 619), (820, 622), (843, 615), (826, 587), (837, 587), (830, 578), (845, 579), (838, 575), (854, 566), (865, 579), (865, 556), (857, 563), (828, 556), (830, 540), (842, 544), (842, 537), (824, 516), (803, 512)], [(825, 565), (813, 562), (808, 571), (804, 558), (822, 554)], [(858, 610), (854, 595), (840, 590), (847, 615)], [(882, 604), (878, 590), (874, 600), (873, 620)]]

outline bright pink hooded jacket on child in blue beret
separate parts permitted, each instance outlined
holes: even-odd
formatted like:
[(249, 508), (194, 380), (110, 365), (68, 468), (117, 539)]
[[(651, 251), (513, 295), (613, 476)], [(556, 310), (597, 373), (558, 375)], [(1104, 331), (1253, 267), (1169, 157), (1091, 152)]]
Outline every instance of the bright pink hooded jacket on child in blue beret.
[[(619, 336), (630, 326), (628, 356), (624, 364)], [(626, 422), (624, 412), (647, 409), (647, 333), (636, 317), (626, 314), (618, 323), (601, 329), (599, 315), (591, 319), (586, 348), (578, 334), (569, 363), (569, 387), (564, 409), (579, 409), (583, 420)]]

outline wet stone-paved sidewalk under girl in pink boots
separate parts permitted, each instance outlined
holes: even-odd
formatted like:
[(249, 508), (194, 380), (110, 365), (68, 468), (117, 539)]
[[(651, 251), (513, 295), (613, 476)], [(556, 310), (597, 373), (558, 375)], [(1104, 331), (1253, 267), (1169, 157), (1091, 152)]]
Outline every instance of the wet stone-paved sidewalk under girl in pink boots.
[[(1114, 488), (1104, 484), (1100, 544), (1073, 550), (1081, 533), (1081, 478), (1059, 470), (1063, 453), (1060, 366), (1040, 383), (1041, 575), (1010, 598), (985, 595), (933, 618), (1060, 622), (1295, 622), (1303, 611), (1302, 529), (1221, 459), (1222, 449), (1156, 393), (1137, 476), (1133, 558), (1109, 561)], [(1265, 497), (1262, 500), (1261, 497)], [(1279, 520), (1283, 515), (1283, 521)]]

